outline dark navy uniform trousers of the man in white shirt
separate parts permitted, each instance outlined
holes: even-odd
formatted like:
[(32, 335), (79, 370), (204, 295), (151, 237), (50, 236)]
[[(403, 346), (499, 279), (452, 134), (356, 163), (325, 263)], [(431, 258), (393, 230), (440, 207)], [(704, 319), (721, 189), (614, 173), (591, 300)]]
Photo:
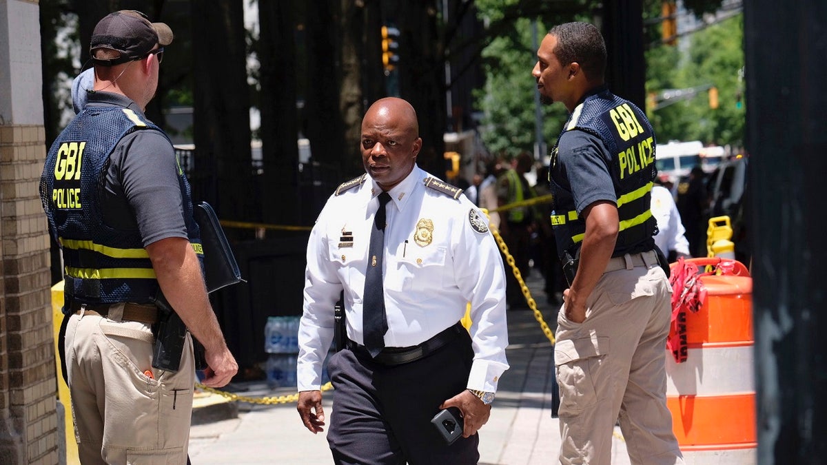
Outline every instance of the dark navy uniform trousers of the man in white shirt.
[(327, 442), (338, 464), (475, 464), (479, 434), (448, 446), (431, 424), (439, 405), (466, 389), (474, 352), (457, 338), (401, 365), (343, 349), (327, 362), (333, 412)]

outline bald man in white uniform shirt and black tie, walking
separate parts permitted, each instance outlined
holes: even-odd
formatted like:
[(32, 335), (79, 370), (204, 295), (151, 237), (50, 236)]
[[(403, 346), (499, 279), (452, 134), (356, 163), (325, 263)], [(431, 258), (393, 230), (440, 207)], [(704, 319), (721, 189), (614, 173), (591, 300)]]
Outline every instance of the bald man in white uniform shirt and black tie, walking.
[[(479, 209), (418, 168), (414, 108), (382, 98), (361, 125), (366, 174), (338, 187), (310, 232), (299, 325), (299, 415), (323, 431), (322, 364), (343, 295), (345, 348), (327, 362), (334, 463), (477, 463), (508, 368), (504, 269)], [(470, 333), (459, 323), (471, 304)], [(456, 407), (448, 445), (430, 420)]]

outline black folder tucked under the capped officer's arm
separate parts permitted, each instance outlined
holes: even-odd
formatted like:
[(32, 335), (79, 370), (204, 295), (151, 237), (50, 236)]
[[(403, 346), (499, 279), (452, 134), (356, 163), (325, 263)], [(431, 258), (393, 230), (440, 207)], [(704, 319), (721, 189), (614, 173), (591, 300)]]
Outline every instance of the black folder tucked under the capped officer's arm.
[[(195, 221), (201, 228), (201, 245), (204, 252), (204, 280), (207, 291), (213, 292), (228, 285), (244, 281), (238, 269), (236, 257), (232, 254), (230, 242), (224, 235), (218, 215), (207, 202), (195, 207)], [(246, 281), (244, 281), (246, 282)]]

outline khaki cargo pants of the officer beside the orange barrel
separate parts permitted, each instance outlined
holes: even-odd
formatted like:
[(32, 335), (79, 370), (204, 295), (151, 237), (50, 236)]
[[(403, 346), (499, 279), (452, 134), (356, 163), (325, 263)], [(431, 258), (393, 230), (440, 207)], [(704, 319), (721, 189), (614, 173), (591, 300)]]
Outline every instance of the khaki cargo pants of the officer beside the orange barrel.
[(583, 323), (561, 309), (554, 348), (561, 463), (611, 463), (618, 419), (632, 463), (683, 463), (666, 402), (671, 298), (657, 264), (629, 264), (600, 278)]

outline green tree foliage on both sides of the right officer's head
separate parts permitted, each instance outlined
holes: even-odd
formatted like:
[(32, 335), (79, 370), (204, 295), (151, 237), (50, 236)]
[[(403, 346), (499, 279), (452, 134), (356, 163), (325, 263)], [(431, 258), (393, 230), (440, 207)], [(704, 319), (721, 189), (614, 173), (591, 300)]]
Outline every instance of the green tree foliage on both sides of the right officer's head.
[[(519, 0), (476, 0), (480, 18), (490, 36), (481, 52), (486, 85), (475, 93), (477, 109), (482, 113), (480, 134), (495, 155), (513, 156), (533, 151), (534, 79), (536, 61), (532, 40), (532, 17), (538, 22), (538, 41), (548, 27), (559, 22), (595, 22), (600, 6), (593, 2), (547, 2), (545, 9), (531, 9), (531, 2)], [(719, 0), (694, 2), (691, 14), (715, 11)], [(706, 84), (719, 92), (719, 108), (710, 108), (705, 89), (695, 98), (654, 110), (648, 109), (658, 140), (700, 140), (718, 144), (741, 145), (745, 124), (743, 105), (736, 106), (742, 95), (743, 15), (681, 36), (678, 46), (661, 41), (661, 2), (644, 0), (644, 42), (648, 93), (667, 89), (687, 89)], [(543, 139), (547, 146), (557, 140), (567, 117), (560, 104), (543, 106)]]

